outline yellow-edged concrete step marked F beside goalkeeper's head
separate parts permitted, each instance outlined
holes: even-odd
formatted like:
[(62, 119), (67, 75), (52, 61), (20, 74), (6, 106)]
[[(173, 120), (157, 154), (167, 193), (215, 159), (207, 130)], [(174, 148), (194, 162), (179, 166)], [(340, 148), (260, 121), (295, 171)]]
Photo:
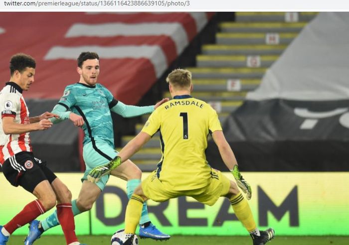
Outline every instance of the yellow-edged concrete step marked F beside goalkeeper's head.
[(193, 79), (194, 91), (251, 91), (261, 83), (260, 79)]

